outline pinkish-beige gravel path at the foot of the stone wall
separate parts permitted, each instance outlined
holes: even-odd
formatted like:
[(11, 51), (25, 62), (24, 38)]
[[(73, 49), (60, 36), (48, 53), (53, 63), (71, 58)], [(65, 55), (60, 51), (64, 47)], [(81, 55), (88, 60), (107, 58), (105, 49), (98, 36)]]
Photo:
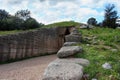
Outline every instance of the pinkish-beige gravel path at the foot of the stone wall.
[(56, 59), (48, 55), (0, 65), (0, 80), (41, 80), (45, 68)]

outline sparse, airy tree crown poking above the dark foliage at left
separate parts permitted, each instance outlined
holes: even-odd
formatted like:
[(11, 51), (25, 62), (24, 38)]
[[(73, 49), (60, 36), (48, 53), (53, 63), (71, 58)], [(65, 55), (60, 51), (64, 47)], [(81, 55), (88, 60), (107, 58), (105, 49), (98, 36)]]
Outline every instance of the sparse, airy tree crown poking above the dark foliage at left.
[(30, 18), (30, 11), (20, 10), (15, 13), (15, 16), (25, 21)]

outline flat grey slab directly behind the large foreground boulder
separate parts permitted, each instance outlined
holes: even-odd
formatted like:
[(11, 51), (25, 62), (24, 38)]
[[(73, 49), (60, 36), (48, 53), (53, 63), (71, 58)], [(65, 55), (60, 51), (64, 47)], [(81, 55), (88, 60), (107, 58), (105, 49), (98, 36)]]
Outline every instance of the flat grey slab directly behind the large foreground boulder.
[(69, 59), (56, 59), (53, 61), (54, 63), (75, 63), (75, 64), (80, 64), (82, 66), (88, 66), (90, 62), (86, 59), (82, 58), (69, 58)]

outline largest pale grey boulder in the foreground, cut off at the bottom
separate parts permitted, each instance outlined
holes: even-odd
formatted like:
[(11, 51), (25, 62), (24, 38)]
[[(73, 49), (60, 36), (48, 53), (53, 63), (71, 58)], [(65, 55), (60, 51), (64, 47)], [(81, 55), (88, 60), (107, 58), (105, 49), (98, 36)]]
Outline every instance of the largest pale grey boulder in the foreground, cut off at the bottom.
[(74, 63), (51, 63), (42, 80), (81, 80), (83, 67)]

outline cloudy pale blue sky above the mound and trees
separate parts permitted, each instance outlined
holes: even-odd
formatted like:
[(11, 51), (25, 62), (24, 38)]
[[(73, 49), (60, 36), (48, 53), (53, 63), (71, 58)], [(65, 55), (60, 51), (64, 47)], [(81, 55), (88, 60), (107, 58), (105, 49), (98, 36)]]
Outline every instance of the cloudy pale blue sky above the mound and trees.
[(106, 4), (115, 4), (120, 16), (119, 0), (0, 0), (0, 9), (14, 15), (18, 10), (30, 10), (38, 22), (50, 24), (59, 21), (86, 23), (91, 17), (104, 19)]

